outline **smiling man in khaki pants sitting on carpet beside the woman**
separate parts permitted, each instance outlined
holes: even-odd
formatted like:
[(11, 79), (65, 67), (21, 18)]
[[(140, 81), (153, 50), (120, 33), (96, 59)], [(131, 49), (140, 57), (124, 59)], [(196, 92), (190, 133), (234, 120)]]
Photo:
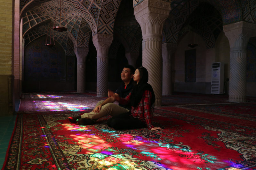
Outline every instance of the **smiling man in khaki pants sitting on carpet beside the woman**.
[[(116, 96), (125, 98), (132, 91), (134, 70), (135, 69), (132, 65), (124, 66), (121, 73), (123, 83), (116, 90)], [(116, 105), (113, 103), (115, 101), (115, 97), (108, 97), (106, 100), (99, 101), (91, 112), (74, 117), (68, 117), (68, 120), (71, 123), (78, 123), (79, 125), (89, 125), (95, 124), (97, 119), (107, 116), (108, 114), (111, 116), (116, 116), (131, 110), (131, 103), (128, 103), (127, 105), (122, 105), (119, 103), (119, 105)]]

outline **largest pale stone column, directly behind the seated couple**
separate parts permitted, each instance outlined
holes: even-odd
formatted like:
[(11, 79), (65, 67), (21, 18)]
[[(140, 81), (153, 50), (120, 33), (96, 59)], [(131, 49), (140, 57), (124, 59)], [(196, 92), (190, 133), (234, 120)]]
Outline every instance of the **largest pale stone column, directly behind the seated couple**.
[(134, 7), (134, 15), (142, 32), (142, 65), (148, 70), (148, 83), (156, 96), (155, 106), (162, 103), (162, 31), (171, 3), (145, 0)]

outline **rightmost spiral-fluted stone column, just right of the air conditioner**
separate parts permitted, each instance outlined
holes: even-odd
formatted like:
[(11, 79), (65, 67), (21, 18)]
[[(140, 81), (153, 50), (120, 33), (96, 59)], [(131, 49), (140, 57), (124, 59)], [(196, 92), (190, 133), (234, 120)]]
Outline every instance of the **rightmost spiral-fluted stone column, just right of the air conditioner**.
[(230, 102), (246, 101), (246, 47), (255, 28), (255, 24), (244, 21), (223, 26), (230, 46)]

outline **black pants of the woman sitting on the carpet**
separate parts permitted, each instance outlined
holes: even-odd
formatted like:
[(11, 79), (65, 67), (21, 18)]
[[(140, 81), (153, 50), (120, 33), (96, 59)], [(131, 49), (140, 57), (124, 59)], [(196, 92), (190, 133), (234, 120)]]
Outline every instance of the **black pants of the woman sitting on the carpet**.
[(108, 119), (108, 126), (116, 130), (145, 128), (147, 125), (138, 118), (134, 118), (131, 112), (123, 113)]

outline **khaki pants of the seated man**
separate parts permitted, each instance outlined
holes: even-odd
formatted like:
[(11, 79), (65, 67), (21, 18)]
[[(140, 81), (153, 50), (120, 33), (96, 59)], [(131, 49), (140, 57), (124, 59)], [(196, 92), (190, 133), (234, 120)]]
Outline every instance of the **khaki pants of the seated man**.
[[(102, 102), (104, 102), (104, 100), (99, 101), (95, 107), (99, 106)], [(99, 113), (94, 113), (91, 111), (89, 113), (84, 113), (83, 115), (81, 115), (81, 118), (90, 118), (90, 119), (97, 120), (100, 117), (104, 117), (107, 115), (116, 116), (129, 111), (130, 110), (125, 109), (121, 106), (118, 106), (117, 104), (107, 103), (101, 107)]]

